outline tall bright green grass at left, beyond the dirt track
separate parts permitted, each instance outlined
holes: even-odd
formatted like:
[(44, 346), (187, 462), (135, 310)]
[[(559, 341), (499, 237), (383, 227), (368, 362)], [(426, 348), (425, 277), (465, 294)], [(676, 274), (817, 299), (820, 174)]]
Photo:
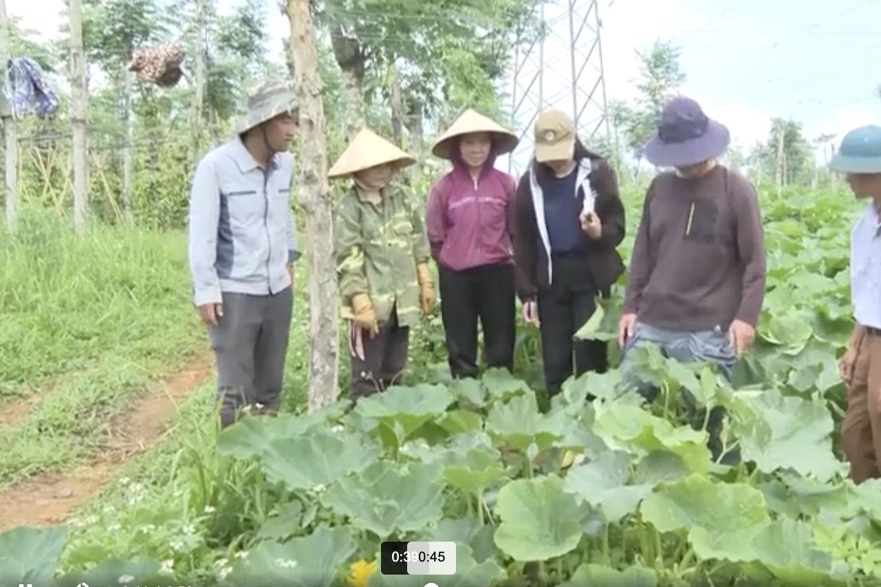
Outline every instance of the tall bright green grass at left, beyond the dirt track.
[(183, 260), (178, 241), (100, 226), (77, 238), (67, 220), (25, 209), (18, 231), (0, 232), (0, 394), (82, 368), (133, 335), (149, 341), (185, 315), (169, 306), (189, 297), (186, 275), (168, 267)]

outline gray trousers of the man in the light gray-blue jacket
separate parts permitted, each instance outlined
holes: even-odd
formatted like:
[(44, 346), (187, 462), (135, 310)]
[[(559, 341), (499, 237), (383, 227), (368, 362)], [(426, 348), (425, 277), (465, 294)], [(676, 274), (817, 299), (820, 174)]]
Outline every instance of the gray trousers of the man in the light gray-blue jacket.
[(223, 317), (208, 327), (222, 427), (235, 422), (246, 406), (278, 412), (292, 310), (292, 288), (267, 296), (223, 294)]

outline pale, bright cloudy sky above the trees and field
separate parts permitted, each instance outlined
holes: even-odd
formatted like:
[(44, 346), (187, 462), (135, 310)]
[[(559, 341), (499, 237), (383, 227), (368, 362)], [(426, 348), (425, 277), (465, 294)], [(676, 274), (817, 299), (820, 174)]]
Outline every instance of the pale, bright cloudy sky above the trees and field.
[[(231, 0), (221, 0), (228, 4)], [(270, 33), (287, 34), (285, 17), (270, 5)], [(58, 4), (58, 10), (48, 9)], [(599, 79), (596, 52), (587, 50), (596, 34), (583, 29), (570, 49), (569, 23), (560, 5), (548, 0), (546, 18), (559, 20), (544, 43), (542, 106), (572, 113), (572, 68), (583, 68), (575, 92), (578, 108)], [(577, 0), (577, 17), (593, 24), (594, 4)], [(44, 35), (55, 33), (63, 0), (6, 0), (7, 11), (23, 25)], [(596, 0), (602, 18), (603, 78), (607, 99), (632, 99), (637, 73), (634, 48), (647, 48), (655, 38), (672, 40), (682, 49), (680, 62), (687, 80), (682, 92), (697, 99), (707, 115), (731, 129), (736, 143), (748, 146), (767, 136), (770, 119), (782, 116), (801, 121), (809, 138), (839, 136), (862, 124), (881, 122), (881, 99), (875, 95), (881, 74), (870, 64), (881, 62), (881, 2), (839, 0)], [(575, 29), (580, 27), (576, 18)], [(873, 31), (873, 28), (875, 29)], [(518, 79), (537, 71), (538, 52)], [(864, 67), (868, 64), (869, 67)], [(511, 84), (513, 91), (514, 84)], [(522, 93), (522, 91), (521, 91)], [(595, 92), (601, 103), (601, 92)], [(529, 128), (539, 106), (537, 84), (517, 108), (519, 131)], [(593, 127), (600, 111), (583, 108), (582, 128)], [(527, 133), (528, 136), (528, 133)], [(524, 141), (524, 147), (528, 141)]]

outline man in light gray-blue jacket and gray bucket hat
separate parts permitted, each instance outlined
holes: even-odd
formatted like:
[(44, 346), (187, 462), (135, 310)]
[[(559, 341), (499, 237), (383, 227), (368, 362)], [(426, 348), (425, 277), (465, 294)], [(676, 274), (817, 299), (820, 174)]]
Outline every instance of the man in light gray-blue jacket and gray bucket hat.
[(252, 407), (278, 412), (292, 315), (292, 264), (300, 257), (291, 216), (287, 152), (298, 110), (284, 84), (248, 95), (235, 137), (196, 165), (189, 197), (189, 269), (218, 370), (220, 425)]

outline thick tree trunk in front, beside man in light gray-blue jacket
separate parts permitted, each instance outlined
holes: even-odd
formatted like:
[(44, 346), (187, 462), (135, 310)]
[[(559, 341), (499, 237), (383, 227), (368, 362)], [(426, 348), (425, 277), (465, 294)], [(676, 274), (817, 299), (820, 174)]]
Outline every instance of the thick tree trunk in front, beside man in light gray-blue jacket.
[(310, 0), (287, 0), (291, 61), (300, 103), (300, 206), (306, 216), (309, 291), (309, 409), (337, 400), (339, 307), (327, 173), (322, 81)]

